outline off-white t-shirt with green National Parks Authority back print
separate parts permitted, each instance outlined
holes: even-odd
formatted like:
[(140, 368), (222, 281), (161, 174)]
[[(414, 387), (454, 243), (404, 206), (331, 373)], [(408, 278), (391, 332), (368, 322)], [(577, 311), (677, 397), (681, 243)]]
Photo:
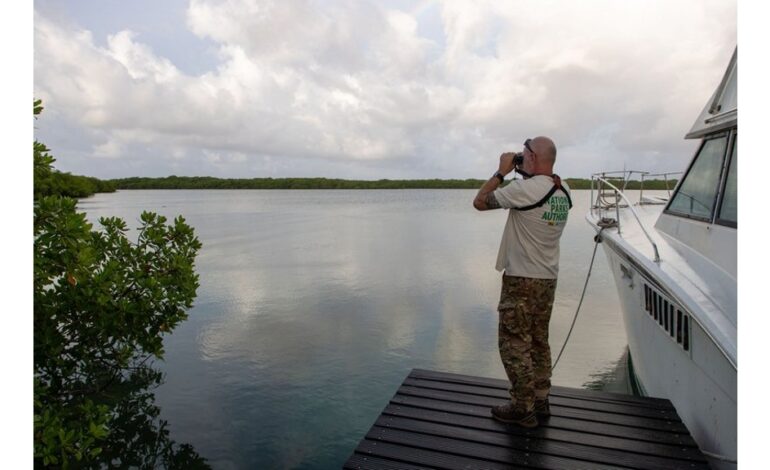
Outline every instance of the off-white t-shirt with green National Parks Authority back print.
[[(562, 180), (562, 187), (569, 186)], [(567, 224), (569, 202), (561, 190), (542, 206), (528, 211), (513, 207), (535, 204), (553, 188), (553, 179), (535, 175), (529, 179), (513, 180), (495, 190), (500, 206), (508, 211), (500, 251), (497, 254), (498, 271), (509, 276), (536, 279), (556, 279), (559, 274), (559, 239)]]

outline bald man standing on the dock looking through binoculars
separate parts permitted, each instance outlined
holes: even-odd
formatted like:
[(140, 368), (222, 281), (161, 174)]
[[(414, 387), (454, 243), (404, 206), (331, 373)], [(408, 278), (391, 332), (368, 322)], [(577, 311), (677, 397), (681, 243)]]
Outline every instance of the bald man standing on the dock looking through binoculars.
[(548, 323), (559, 272), (559, 239), (572, 206), (569, 187), (553, 174), (556, 146), (548, 137), (524, 142), (515, 179), (500, 188), (515, 169), (516, 153), (500, 156), (498, 171), (479, 190), (473, 206), (511, 209), (497, 255), (503, 286), (498, 312), (498, 346), (511, 382), (511, 401), (492, 408), (492, 417), (536, 427), (550, 416), (551, 350)]

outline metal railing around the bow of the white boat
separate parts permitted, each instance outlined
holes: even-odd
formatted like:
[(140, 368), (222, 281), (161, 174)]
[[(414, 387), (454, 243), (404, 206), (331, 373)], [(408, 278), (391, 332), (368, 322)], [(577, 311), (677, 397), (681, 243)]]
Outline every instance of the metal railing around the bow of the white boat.
[[(623, 170), (623, 171), (616, 171), (616, 172), (595, 173), (591, 175), (591, 201), (592, 201), (591, 213), (593, 213), (595, 209), (598, 209), (599, 211), (598, 219), (600, 221), (604, 221), (604, 220), (607, 220), (607, 218), (604, 217), (605, 212), (614, 208), (615, 209), (614, 225), (617, 226), (618, 235), (620, 235), (621, 234), (620, 208), (621, 207), (628, 208), (631, 211), (631, 213), (634, 215), (636, 222), (639, 224), (639, 227), (642, 229), (642, 232), (647, 237), (647, 240), (649, 240), (650, 244), (652, 245), (652, 250), (655, 254), (654, 261), (657, 263), (660, 261), (660, 255), (658, 254), (658, 245), (655, 244), (652, 237), (647, 232), (647, 229), (644, 227), (644, 224), (639, 218), (639, 214), (636, 213), (636, 210), (634, 210), (633, 204), (631, 204), (631, 201), (625, 195), (624, 189), (626, 188), (628, 181), (630, 179), (630, 176), (633, 173), (649, 174), (647, 172), (636, 171), (636, 170)], [(620, 174), (621, 176), (620, 177), (610, 176), (610, 175), (618, 175), (618, 174)], [(613, 184), (610, 181), (611, 179), (614, 179), (616, 183), (618, 183), (618, 180), (621, 180), (622, 188), (619, 188), (615, 184)], [(596, 187), (596, 192), (597, 192), (595, 200), (594, 200), (594, 187)], [(623, 202), (625, 204), (622, 204)]]

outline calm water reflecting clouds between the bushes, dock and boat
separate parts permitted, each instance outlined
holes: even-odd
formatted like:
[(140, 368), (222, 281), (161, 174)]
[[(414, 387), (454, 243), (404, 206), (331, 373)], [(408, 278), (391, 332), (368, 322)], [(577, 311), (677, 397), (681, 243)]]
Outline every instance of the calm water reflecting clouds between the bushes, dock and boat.
[[(506, 217), (475, 190), (120, 191), (96, 221), (182, 214), (203, 243), (190, 317), (156, 392), (171, 437), (214, 468), (340, 468), (412, 368), (505, 378), (497, 352)], [(574, 191), (551, 321), (564, 342), (593, 250)], [(553, 383), (623, 390), (626, 341), (600, 249)]]

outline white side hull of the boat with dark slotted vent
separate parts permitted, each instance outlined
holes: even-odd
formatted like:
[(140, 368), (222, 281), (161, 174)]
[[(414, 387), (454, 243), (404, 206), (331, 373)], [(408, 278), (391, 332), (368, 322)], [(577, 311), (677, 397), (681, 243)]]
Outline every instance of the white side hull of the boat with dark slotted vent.
[(640, 392), (674, 404), (713, 468), (735, 469), (737, 369), (654, 271), (603, 238)]

